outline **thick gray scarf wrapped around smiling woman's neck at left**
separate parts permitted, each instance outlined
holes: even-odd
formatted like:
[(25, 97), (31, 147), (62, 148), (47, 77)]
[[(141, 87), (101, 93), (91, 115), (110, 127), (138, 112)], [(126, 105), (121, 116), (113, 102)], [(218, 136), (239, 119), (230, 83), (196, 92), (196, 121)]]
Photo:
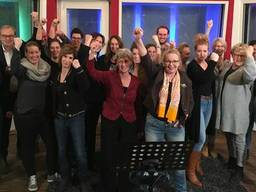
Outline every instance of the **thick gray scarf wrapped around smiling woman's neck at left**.
[(50, 76), (51, 66), (43, 59), (40, 59), (38, 65), (33, 65), (26, 58), (23, 58), (21, 65), (27, 69), (26, 75), (31, 80), (43, 82)]

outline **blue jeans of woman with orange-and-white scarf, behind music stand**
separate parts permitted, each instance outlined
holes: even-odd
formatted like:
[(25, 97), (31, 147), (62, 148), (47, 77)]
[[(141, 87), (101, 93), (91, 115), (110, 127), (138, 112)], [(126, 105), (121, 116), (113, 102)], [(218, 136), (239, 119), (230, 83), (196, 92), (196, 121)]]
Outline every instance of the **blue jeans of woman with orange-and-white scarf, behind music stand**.
[[(148, 114), (145, 125), (145, 138), (149, 142), (184, 141), (184, 127), (174, 128), (172, 124), (156, 119)], [(176, 192), (187, 192), (185, 170), (174, 171)]]

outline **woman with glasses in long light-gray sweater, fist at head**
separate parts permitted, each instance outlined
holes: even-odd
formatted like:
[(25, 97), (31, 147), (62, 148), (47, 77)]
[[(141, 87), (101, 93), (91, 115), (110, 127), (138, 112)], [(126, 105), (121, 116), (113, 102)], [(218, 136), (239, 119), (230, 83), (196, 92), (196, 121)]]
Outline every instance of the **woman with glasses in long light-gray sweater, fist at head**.
[(253, 47), (239, 43), (231, 50), (233, 63), (220, 74), (221, 87), (217, 105), (216, 127), (226, 136), (232, 180), (243, 177), (245, 135), (249, 125), (251, 86), (256, 78)]

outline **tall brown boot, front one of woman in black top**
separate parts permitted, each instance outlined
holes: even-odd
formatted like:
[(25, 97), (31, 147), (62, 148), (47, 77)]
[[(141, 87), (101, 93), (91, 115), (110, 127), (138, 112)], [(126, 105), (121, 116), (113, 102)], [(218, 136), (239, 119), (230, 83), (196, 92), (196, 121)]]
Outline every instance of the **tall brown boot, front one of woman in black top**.
[(187, 178), (191, 184), (195, 185), (196, 187), (202, 188), (202, 183), (196, 176), (196, 167), (198, 162), (201, 158), (201, 152), (192, 151), (188, 160), (187, 166)]

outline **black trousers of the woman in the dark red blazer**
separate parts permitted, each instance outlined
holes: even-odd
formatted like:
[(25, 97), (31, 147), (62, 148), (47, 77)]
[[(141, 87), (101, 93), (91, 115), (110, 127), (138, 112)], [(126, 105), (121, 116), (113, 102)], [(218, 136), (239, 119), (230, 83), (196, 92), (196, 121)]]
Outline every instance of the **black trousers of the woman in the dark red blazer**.
[(120, 162), (125, 161), (125, 144), (136, 141), (135, 123), (128, 123), (123, 118), (111, 121), (102, 116), (101, 131), (101, 176), (104, 192), (130, 192), (128, 173), (115, 170)]

